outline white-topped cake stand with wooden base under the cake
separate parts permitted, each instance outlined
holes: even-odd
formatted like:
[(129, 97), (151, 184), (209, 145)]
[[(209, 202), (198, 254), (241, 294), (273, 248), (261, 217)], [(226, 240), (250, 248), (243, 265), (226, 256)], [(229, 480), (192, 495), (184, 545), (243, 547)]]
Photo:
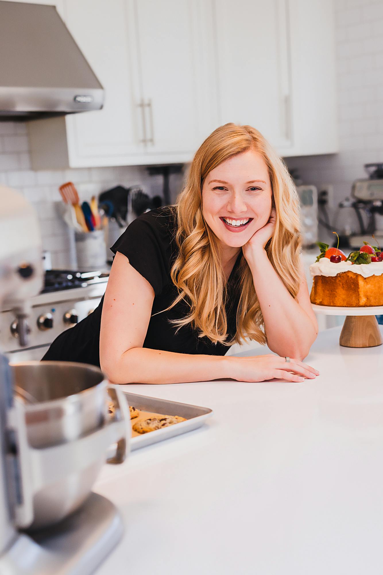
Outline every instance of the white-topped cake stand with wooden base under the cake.
[(383, 343), (375, 317), (383, 315), (383, 305), (373, 308), (337, 308), (312, 304), (312, 309), (327, 316), (347, 316), (339, 338), (341, 346), (375, 347)]

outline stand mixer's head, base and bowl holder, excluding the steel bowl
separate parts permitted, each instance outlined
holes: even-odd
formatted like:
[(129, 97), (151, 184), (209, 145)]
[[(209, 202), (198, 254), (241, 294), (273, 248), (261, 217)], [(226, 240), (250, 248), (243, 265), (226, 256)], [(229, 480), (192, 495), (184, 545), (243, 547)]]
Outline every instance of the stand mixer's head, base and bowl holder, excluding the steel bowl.
[[(0, 186), (0, 197), (0, 305), (6, 302), (13, 306), (18, 337), (25, 345), (28, 338), (28, 298), (37, 294), (42, 286), (40, 231), (36, 213), (21, 194)], [(100, 398), (99, 408), (107, 413), (106, 382), (101, 371), (81, 364), (72, 366), (73, 370), (78, 370), (73, 374), (81, 373), (82, 377), (91, 374), (92, 385)], [(30, 362), (30, 365), (13, 368), (0, 354), (0, 573), (87, 575), (94, 572), (122, 536), (123, 527), (117, 509), (105, 497), (90, 492), (89, 488), (78, 507), (69, 508), (69, 515), (64, 513), (59, 521), (47, 523), (45, 528), (25, 531), (33, 524), (36, 515), (33, 505), (38, 499), (33, 497), (38, 489), (41, 496), (47, 485), (60, 485), (69, 471), (72, 473), (69, 477), (71, 487), (73, 477), (76, 478), (73, 473), (80, 474), (86, 465), (93, 465), (92, 458), (102, 465), (112, 444), (117, 444), (117, 448), (114, 457), (107, 462), (121, 463), (129, 445), (129, 409), (121, 392), (112, 390), (110, 394), (115, 396), (117, 418), (104, 419), (102, 416), (91, 432), (88, 430), (79, 433), (78, 437), (64, 438), (49, 447), (31, 446), (28, 442), (30, 430), (27, 429), (29, 406), (15, 397), (14, 379), (18, 377), (18, 370), (27, 370), (28, 379), (32, 379), (33, 371), (37, 371), (35, 382), (39, 384), (40, 369), (53, 370), (52, 373), (59, 375), (72, 368), (70, 364), (63, 366), (60, 362), (42, 365), (41, 368), (37, 362)], [(52, 383), (51, 387), (57, 388), (57, 381)], [(82, 394), (72, 391), (68, 392), (72, 393), (68, 397), (57, 395), (55, 390), (56, 403), (42, 398), (30, 406), (30, 413), (36, 415), (40, 408), (48, 413), (49, 406), (59, 401), (68, 400), (74, 405), (78, 398), (89, 397), (84, 396), (90, 391), (86, 385), (79, 390)], [(89, 407), (83, 409), (85, 411)], [(53, 417), (48, 423), (55, 424)]]

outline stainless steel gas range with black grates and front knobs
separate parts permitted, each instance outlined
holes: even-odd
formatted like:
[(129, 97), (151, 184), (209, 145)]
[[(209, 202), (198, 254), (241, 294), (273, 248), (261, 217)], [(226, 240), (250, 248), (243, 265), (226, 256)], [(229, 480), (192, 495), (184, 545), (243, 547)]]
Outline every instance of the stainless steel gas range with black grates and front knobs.
[(41, 359), (53, 340), (98, 306), (106, 290), (105, 271), (48, 270), (44, 289), (30, 300), (28, 344), (21, 347), (12, 309), (0, 310), (0, 347), (12, 362)]

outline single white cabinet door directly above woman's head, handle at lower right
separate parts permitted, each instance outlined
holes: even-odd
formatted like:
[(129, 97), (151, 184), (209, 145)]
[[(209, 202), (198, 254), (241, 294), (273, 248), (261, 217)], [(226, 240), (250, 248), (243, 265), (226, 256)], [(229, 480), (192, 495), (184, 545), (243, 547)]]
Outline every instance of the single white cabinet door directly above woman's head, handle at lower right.
[(220, 121), (250, 124), (291, 145), (286, 0), (216, 0)]

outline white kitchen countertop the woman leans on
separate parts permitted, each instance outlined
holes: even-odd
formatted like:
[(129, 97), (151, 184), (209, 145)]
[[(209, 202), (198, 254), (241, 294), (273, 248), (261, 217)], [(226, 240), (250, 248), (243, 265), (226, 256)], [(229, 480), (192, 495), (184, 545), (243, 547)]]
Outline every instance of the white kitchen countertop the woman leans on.
[(383, 346), (340, 347), (340, 331), (319, 333), (303, 384), (129, 385), (214, 415), (103, 467), (125, 536), (98, 575), (380, 575)]

